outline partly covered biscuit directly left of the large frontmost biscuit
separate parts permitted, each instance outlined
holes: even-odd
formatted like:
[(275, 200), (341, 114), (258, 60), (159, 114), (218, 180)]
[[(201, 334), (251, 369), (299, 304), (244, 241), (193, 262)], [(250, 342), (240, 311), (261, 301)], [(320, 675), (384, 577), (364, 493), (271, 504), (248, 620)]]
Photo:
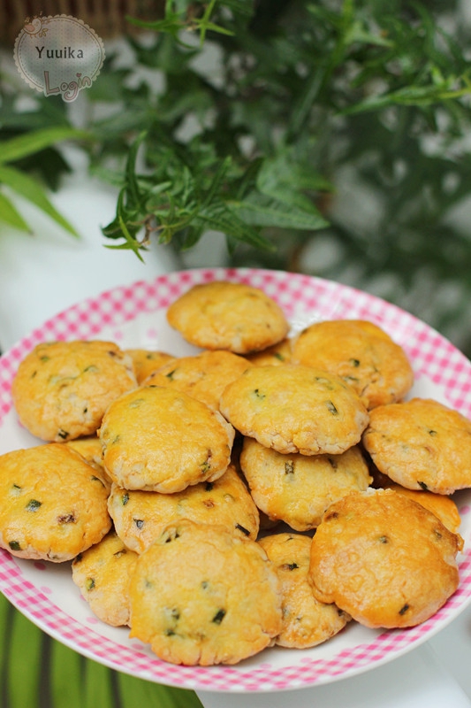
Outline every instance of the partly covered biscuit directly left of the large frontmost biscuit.
[(129, 624), (129, 578), (137, 558), (111, 530), (72, 561), (72, 581), (92, 612), (107, 625)]

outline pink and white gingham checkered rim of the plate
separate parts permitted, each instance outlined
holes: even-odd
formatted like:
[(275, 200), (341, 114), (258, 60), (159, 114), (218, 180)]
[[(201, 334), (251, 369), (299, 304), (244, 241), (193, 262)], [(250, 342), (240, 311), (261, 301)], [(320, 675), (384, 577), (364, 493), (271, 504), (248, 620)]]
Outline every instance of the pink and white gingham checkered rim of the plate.
[[(296, 273), (254, 269), (198, 269), (160, 276), (113, 289), (57, 315), (18, 342), (0, 358), (0, 435), (11, 410), (11, 381), (19, 361), (38, 342), (99, 338), (104, 327), (124, 326), (142, 312), (166, 309), (196, 283), (229, 280), (259, 287), (284, 308), (288, 317), (306, 319), (363, 318), (376, 322), (407, 351), (418, 377), (444, 389), (449, 403), (471, 418), (471, 364), (450, 342), (399, 308), (346, 286)], [(471, 538), (471, 535), (470, 535)], [(470, 539), (465, 539), (468, 541)], [(42, 575), (42, 579), (44, 575)], [(378, 666), (429, 639), (471, 602), (471, 551), (460, 557), (460, 588), (427, 622), (406, 630), (372, 632), (371, 639), (337, 652), (282, 650), (289, 658), (270, 660), (270, 650), (238, 666), (173, 666), (153, 657), (143, 646), (100, 633), (64, 612), (28, 581), (15, 558), (0, 550), (0, 589), (30, 620), (84, 656), (118, 671), (187, 689), (275, 691), (334, 681)], [(287, 653), (286, 653), (287, 652)], [(284, 656), (285, 656), (284, 655)], [(260, 658), (260, 660), (257, 660)], [(279, 658), (279, 653), (277, 654)]]

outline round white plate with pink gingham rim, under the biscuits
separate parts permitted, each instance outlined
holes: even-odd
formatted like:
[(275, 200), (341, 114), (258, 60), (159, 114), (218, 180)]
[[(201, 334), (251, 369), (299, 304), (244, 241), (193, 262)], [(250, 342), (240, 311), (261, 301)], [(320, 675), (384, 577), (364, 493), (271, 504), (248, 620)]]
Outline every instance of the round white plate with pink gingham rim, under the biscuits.
[[(110, 339), (124, 348), (144, 347), (175, 355), (195, 353), (171, 330), (168, 305), (195, 283), (243, 281), (259, 287), (284, 308), (293, 330), (317, 319), (362, 318), (383, 327), (414, 366), (412, 395), (432, 397), (471, 418), (471, 364), (452, 344), (399, 308), (332, 281), (295, 273), (250, 269), (199, 269), (110, 290), (50, 319), (0, 358), (0, 453), (39, 441), (19, 426), (11, 408), (11, 380), (34, 345), (55, 339)], [(0, 550), (0, 590), (29, 620), (58, 641), (105, 666), (186, 689), (277, 691), (336, 681), (384, 664), (413, 649), (454, 620), (471, 601), (471, 489), (455, 495), (465, 548), (460, 588), (418, 627), (372, 630), (350, 623), (339, 635), (310, 650), (275, 647), (236, 666), (173, 666), (146, 645), (130, 640), (125, 627), (108, 627), (89, 611), (72, 582), (69, 563), (13, 558)]]

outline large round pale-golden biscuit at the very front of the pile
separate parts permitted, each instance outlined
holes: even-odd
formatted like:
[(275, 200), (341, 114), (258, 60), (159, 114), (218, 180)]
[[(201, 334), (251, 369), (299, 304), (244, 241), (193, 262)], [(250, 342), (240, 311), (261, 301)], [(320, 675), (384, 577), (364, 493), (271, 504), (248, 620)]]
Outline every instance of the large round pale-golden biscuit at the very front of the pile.
[(262, 547), (216, 525), (170, 524), (138, 558), (131, 636), (188, 666), (236, 664), (281, 630), (277, 573)]

